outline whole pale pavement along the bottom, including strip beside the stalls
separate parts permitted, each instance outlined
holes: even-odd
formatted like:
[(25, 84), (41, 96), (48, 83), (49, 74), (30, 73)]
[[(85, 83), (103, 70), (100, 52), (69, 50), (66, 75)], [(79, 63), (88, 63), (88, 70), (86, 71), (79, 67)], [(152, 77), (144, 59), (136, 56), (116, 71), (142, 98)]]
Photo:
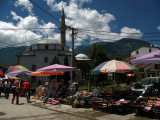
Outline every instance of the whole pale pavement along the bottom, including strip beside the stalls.
[(72, 108), (69, 105), (42, 104), (41, 101), (27, 103), (20, 97), (20, 105), (11, 104), (4, 96), (0, 98), (0, 120), (153, 120), (136, 117), (134, 113), (116, 115), (86, 108)]

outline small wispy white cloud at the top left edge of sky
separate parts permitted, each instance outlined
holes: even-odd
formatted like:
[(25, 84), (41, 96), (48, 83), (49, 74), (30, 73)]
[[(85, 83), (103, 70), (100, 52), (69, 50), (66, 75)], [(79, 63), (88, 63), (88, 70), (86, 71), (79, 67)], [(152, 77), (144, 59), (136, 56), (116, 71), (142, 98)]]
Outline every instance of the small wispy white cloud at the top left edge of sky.
[(30, 3), (29, 0), (17, 0), (17, 1), (15, 2), (15, 6), (16, 6), (16, 7), (23, 6), (23, 9), (22, 9), (22, 10), (24, 10), (24, 8), (25, 8), (26, 10), (28, 10), (28, 12), (29, 12), (30, 14), (33, 14), (33, 13), (32, 13), (33, 5)]

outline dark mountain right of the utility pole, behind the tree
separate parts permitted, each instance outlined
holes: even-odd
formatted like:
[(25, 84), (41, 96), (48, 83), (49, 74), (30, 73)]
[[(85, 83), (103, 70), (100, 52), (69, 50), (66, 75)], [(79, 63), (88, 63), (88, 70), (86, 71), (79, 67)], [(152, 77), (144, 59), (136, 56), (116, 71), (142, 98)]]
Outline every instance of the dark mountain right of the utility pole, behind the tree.
[[(132, 51), (140, 47), (150, 46), (150, 44), (145, 41), (132, 38), (123, 38), (116, 42), (99, 42), (95, 44), (101, 44), (106, 50), (107, 55), (121, 57), (129, 57)], [(75, 49), (75, 54), (84, 53), (89, 55), (89, 51), (91, 50), (92, 46), (93, 44), (88, 46), (78, 46)]]

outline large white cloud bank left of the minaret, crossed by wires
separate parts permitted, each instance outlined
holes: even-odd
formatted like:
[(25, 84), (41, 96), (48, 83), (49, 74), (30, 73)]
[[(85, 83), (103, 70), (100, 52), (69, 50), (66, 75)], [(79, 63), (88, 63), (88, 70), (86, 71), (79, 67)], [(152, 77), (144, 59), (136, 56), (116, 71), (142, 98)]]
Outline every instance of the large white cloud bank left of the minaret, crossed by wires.
[[(10, 13), (17, 23), (14, 25), (13, 23), (0, 21), (1, 28), (8, 29), (22, 29), (22, 28), (56, 28), (56, 25), (53, 23), (38, 23), (38, 18), (36, 16), (27, 16), (22, 18), (18, 16), (15, 12), (11, 11)], [(54, 38), (55, 40), (60, 39), (60, 35), (54, 33), (54, 29), (35, 29), (35, 30), (0, 30), (0, 43), (6, 45), (14, 45), (17, 43), (19, 46), (29, 45), (37, 42), (42, 36), (49, 35), (50, 38)], [(59, 37), (59, 38), (58, 38)], [(32, 41), (26, 43), (26, 41), (37, 39), (37, 41)], [(16, 45), (15, 45), (16, 46)]]

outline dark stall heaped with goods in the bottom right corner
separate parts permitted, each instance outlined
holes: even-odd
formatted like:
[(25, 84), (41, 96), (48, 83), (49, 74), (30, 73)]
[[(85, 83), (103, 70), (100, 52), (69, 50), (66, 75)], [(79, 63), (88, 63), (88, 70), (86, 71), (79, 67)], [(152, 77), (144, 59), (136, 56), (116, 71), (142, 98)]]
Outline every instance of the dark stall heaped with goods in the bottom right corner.
[(136, 115), (160, 117), (160, 84), (149, 87), (135, 102)]

